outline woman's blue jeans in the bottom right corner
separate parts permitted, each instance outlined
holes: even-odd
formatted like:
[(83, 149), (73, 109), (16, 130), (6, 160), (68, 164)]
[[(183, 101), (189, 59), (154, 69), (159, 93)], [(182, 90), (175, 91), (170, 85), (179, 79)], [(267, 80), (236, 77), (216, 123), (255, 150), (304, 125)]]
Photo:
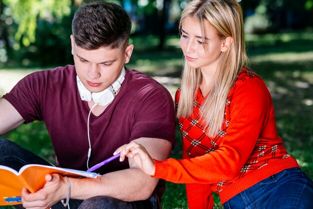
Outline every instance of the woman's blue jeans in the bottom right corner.
[(313, 182), (299, 168), (282, 170), (236, 194), (224, 208), (313, 208)]

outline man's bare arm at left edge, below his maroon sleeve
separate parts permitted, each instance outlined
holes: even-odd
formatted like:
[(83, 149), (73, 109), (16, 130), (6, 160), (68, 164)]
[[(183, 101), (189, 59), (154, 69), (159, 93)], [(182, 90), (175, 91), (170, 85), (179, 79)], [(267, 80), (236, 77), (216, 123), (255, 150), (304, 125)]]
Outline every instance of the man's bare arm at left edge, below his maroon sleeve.
[(0, 135), (14, 129), (24, 122), (22, 116), (13, 107), (13, 105), (5, 100), (0, 99)]

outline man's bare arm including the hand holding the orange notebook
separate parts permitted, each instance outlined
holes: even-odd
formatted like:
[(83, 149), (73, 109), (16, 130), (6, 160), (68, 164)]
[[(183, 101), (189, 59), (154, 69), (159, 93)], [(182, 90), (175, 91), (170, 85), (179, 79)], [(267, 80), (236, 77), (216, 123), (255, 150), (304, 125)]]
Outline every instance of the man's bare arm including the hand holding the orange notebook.
[[(138, 138), (149, 154), (158, 160), (169, 156), (171, 142), (159, 138)], [(70, 198), (86, 199), (92, 196), (110, 196), (124, 201), (147, 199), (153, 192), (158, 178), (145, 174), (133, 159), (128, 158), (129, 169), (104, 174), (98, 178), (69, 178), (71, 183)], [(66, 198), (67, 185), (62, 177), (52, 174), (52, 180), (35, 193), (22, 192), (24, 207), (42, 208)], [(36, 207), (38, 208), (38, 207)]]

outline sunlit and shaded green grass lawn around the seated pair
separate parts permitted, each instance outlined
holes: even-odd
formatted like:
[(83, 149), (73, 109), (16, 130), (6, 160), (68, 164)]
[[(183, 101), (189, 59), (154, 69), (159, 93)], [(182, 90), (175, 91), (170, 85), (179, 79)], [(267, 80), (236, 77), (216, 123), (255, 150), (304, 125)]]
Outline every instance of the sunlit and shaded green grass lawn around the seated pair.
[[(164, 50), (156, 47), (155, 37), (135, 37), (135, 47), (128, 67), (153, 76), (173, 95), (179, 85), (182, 53), (177, 37), (169, 37)], [(288, 152), (313, 178), (313, 33), (293, 32), (247, 35), (251, 68), (266, 82), (274, 102), (278, 134)], [(42, 122), (21, 125), (5, 134), (18, 144), (54, 162), (53, 149)], [(171, 157), (181, 158), (181, 139)], [(188, 208), (183, 184), (167, 182), (162, 198), (164, 209)], [(214, 194), (214, 208), (222, 208)]]

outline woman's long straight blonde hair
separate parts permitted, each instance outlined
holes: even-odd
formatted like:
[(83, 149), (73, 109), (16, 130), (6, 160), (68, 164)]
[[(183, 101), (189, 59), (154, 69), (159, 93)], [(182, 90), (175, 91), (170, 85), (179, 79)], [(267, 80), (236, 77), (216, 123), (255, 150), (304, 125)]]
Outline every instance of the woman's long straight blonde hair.
[[(240, 69), (248, 63), (245, 52), (242, 10), (236, 0), (192, 0), (181, 14), (179, 29), (184, 19), (192, 17), (199, 21), (204, 38), (203, 20), (216, 30), (220, 39), (232, 37), (227, 51), (222, 52), (214, 74), (212, 87), (200, 111), (207, 135), (215, 136), (224, 121), (226, 100)], [(205, 40), (203, 40), (205, 41)], [(181, 78), (177, 117), (186, 117), (193, 112), (193, 101), (202, 81), (200, 68), (191, 68), (184, 62)], [(209, 128), (208, 128), (209, 126)]]

